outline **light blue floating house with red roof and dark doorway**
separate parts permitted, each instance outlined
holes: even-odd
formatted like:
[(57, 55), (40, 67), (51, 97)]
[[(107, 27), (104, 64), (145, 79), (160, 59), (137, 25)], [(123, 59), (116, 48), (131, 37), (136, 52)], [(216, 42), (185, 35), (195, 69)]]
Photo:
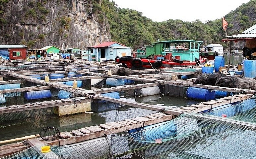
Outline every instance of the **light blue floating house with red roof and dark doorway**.
[(126, 47), (117, 42), (105, 42), (93, 46), (92, 57), (95, 55), (97, 60), (114, 60), (116, 56), (131, 56), (131, 47)]

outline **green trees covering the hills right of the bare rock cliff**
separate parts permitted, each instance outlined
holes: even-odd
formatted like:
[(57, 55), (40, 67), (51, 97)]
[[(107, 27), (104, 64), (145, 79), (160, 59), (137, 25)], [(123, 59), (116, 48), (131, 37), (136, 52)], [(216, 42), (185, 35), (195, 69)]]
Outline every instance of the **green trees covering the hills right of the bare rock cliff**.
[[(141, 12), (121, 9), (115, 2), (102, 0), (102, 13), (108, 18), (112, 41), (138, 48), (159, 40), (198, 40), (204, 43), (222, 43), (225, 36), (222, 19), (184, 22), (169, 19), (162, 22), (152, 21)], [(239, 34), (256, 23), (256, 0), (242, 4), (225, 16), (228, 22), (227, 35)]]

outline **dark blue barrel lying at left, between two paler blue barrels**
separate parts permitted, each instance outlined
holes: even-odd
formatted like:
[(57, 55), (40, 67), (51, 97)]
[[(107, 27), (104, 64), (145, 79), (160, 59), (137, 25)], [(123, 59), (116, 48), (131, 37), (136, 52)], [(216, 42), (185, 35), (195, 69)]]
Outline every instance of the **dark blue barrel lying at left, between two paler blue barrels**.
[(51, 97), (50, 90), (37, 90), (37, 91), (24, 92), (24, 99), (26, 100), (50, 98), (50, 97)]

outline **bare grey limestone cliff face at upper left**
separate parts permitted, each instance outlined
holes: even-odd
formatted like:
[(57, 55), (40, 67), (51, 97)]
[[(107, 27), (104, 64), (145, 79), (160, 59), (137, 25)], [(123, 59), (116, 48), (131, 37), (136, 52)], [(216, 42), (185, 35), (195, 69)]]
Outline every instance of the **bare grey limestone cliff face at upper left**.
[(85, 48), (111, 41), (101, 0), (12, 0), (4, 5), (0, 45), (30, 49), (54, 45)]

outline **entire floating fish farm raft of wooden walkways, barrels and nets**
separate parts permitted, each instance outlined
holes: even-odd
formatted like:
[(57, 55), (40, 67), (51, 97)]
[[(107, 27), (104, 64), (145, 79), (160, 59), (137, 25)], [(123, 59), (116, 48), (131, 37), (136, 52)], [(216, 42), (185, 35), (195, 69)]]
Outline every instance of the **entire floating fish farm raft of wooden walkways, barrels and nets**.
[[(0, 158), (255, 158), (255, 89), (238, 87), (238, 76), (202, 74), (202, 66), (130, 70), (83, 59), (3, 61), (0, 72), (0, 121), (9, 125), (38, 112), (65, 118), (124, 106), (144, 110), (71, 131), (44, 127), (3, 137)], [(223, 77), (233, 81), (229, 87), (216, 84)], [(166, 106), (121, 98), (127, 94), (198, 102)]]

